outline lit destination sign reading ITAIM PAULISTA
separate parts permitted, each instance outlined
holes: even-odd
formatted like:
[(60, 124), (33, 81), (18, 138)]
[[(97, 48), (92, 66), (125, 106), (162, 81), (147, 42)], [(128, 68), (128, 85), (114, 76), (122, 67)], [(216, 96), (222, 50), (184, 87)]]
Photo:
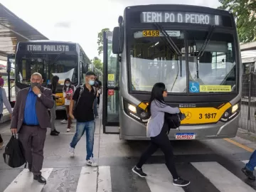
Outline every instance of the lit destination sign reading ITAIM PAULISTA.
[(65, 52), (65, 51), (69, 51), (69, 46), (31, 44), (31, 45), (26, 46), (26, 50), (28, 50), (28, 51), (47, 51), (47, 52)]

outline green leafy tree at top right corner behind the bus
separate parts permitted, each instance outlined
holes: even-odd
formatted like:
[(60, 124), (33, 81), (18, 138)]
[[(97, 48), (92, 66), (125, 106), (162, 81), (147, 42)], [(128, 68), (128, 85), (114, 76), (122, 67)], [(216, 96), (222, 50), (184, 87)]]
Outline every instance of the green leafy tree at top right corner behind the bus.
[(256, 41), (256, 1), (219, 0), (219, 9), (231, 11), (236, 19), (240, 42)]

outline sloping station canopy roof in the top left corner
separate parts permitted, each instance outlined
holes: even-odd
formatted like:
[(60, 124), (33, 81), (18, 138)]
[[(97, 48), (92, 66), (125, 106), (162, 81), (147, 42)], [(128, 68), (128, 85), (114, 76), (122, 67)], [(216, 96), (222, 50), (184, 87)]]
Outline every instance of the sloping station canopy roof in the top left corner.
[(15, 53), (19, 41), (48, 40), (28, 23), (0, 4), (0, 60)]

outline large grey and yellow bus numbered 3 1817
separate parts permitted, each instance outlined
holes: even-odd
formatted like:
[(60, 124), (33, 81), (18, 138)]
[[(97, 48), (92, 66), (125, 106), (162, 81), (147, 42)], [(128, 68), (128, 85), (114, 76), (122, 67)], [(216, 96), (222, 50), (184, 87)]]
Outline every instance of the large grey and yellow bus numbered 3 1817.
[[(129, 6), (104, 35), (105, 133), (146, 138), (146, 106), (156, 82), (186, 114), (169, 139), (235, 137), (241, 58), (229, 11), (188, 5)], [(112, 51), (111, 51), (112, 49)]]

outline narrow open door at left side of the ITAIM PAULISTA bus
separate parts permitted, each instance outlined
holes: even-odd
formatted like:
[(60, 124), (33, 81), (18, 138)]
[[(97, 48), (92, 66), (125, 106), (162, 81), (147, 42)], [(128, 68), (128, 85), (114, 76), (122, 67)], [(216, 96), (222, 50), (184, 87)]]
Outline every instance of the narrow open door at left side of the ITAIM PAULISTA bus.
[[(15, 95), (15, 55), (7, 55), (7, 82), (8, 82), (8, 100), (11, 104), (11, 107), (14, 107), (16, 95)], [(12, 91), (13, 90), (13, 91)]]

